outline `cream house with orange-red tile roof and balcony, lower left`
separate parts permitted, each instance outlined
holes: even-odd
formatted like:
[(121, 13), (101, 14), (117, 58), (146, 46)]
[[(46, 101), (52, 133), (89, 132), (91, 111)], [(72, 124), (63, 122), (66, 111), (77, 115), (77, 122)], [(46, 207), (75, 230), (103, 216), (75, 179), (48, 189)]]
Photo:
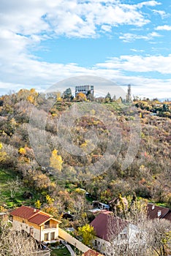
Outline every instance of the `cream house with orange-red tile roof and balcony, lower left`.
[(36, 208), (20, 206), (10, 215), (15, 230), (24, 230), (37, 241), (52, 241), (58, 238), (58, 225), (61, 222), (50, 214)]

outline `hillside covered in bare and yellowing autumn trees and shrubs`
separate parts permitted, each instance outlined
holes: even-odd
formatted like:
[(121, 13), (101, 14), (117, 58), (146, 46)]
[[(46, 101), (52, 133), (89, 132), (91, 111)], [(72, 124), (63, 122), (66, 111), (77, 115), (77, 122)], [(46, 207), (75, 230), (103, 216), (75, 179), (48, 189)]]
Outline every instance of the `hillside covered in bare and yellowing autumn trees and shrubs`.
[[(86, 113), (87, 110), (83, 109), (85, 105), (82, 107), (82, 100), (84, 99), (68, 101), (58, 95), (54, 97), (38, 94), (34, 89), (23, 89), (16, 94), (0, 98), (1, 206), (6, 205), (10, 208), (34, 203), (40, 206), (39, 203), (42, 203), (47, 211), (53, 212), (57, 217), (62, 211), (72, 211), (81, 215), (86, 211), (88, 202), (83, 201), (83, 207), (75, 206), (80, 197), (75, 188), (82, 187), (91, 194), (91, 197), (104, 203), (121, 194), (129, 200), (136, 195), (137, 198), (142, 197), (170, 207), (170, 102), (134, 99), (132, 104), (140, 117), (140, 148), (132, 164), (123, 170), (121, 165), (130, 143), (129, 121), (135, 120), (132, 112), (127, 111), (128, 103), (94, 99), (98, 108), (92, 109), (91, 115), (77, 116), (76, 113), (73, 124), (71, 121), (72, 140), (76, 148), (83, 148), (87, 154), (67, 152), (66, 146), (69, 144), (63, 145), (62, 138), (58, 138), (60, 118), (63, 118), (67, 111), (73, 111), (73, 105), (77, 106), (75, 108), (82, 108), (81, 111)], [(30, 143), (28, 130), (33, 109), (37, 109), (37, 115), (34, 120), (34, 142)], [(108, 116), (105, 116), (105, 111)], [(46, 120), (43, 121), (43, 117)], [(121, 141), (116, 140), (118, 148), (112, 148), (113, 145), (110, 148), (110, 153), (116, 158), (115, 161), (109, 168), (103, 163), (103, 169), (96, 172), (88, 166), (99, 163), (107, 151), (110, 141), (110, 118), (115, 119), (115, 129), (119, 130), (116, 135), (121, 135)], [(105, 120), (107, 125), (103, 123)], [(41, 127), (44, 122), (45, 131)], [(62, 125), (60, 129), (61, 134), (66, 136), (63, 138), (65, 142), (68, 139), (67, 129), (66, 124)], [(88, 137), (92, 134), (88, 133), (92, 127), (96, 132), (96, 135), (93, 133), (94, 140), (98, 137), (95, 146), (92, 138)], [(39, 134), (43, 132), (48, 151), (45, 151), (47, 145), (43, 148), (41, 144), (42, 148), (37, 151), (41, 156), (39, 155), (37, 162), (37, 154), (35, 155), (32, 146), (39, 143)], [(40, 160), (44, 161), (45, 165), (41, 166)], [(6, 182), (8, 186), (4, 184)], [(14, 195), (11, 195), (10, 189), (8, 190), (10, 186), (19, 187)], [(24, 192), (28, 191), (31, 191), (31, 198), (24, 198)], [(79, 207), (81, 211), (77, 212)], [(80, 215), (77, 218), (79, 221), (82, 218)]]

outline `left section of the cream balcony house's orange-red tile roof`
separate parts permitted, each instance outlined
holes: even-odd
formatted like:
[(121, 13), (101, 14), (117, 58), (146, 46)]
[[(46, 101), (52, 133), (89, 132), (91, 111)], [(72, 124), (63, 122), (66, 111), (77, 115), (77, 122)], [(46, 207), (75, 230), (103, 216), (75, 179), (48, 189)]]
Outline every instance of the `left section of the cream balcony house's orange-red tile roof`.
[(11, 212), (12, 216), (21, 217), (24, 219), (29, 219), (37, 214), (40, 210), (34, 209), (28, 206), (20, 206), (19, 208), (15, 209)]

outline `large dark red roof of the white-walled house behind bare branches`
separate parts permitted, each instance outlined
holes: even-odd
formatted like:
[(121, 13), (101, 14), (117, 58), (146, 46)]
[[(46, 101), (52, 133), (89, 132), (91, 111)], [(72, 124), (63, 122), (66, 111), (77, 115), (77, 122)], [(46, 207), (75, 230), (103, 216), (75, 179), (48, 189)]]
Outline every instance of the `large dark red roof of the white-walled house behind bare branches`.
[(114, 217), (111, 214), (100, 213), (91, 222), (91, 226), (94, 227), (96, 236), (106, 241), (110, 241), (111, 238), (115, 238), (129, 223), (125, 220)]

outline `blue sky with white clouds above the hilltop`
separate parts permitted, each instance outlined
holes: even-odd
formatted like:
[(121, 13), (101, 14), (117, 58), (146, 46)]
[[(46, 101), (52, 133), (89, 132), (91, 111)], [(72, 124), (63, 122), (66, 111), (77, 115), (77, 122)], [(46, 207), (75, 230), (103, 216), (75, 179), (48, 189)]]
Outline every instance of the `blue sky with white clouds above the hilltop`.
[(92, 75), (171, 98), (170, 50), (170, 0), (1, 0), (0, 95)]

